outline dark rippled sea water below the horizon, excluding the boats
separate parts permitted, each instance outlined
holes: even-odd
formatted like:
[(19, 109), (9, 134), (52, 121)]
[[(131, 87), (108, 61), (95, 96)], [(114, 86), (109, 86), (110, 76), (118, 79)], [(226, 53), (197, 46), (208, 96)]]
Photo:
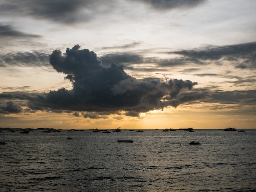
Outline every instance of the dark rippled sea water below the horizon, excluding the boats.
[(4, 130), (0, 141), (2, 192), (256, 191), (256, 129)]

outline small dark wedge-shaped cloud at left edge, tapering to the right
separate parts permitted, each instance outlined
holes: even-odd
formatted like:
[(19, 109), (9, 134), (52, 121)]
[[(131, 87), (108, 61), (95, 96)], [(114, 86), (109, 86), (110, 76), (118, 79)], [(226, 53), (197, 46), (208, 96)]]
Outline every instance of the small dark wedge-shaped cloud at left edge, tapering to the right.
[(17, 31), (11, 27), (11, 25), (0, 25), (0, 38), (6, 38), (6, 37), (11, 37), (11, 38), (39, 38), (41, 36), (38, 35), (33, 35), (29, 33), (23, 33), (21, 31)]

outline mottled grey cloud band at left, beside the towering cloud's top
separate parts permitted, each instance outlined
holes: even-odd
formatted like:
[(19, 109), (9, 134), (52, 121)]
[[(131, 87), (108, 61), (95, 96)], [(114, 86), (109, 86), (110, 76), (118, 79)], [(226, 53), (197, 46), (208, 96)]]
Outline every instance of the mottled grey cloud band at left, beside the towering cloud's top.
[(0, 54), (0, 67), (13, 66), (50, 66), (49, 54), (40, 52), (16, 52), (8, 54)]

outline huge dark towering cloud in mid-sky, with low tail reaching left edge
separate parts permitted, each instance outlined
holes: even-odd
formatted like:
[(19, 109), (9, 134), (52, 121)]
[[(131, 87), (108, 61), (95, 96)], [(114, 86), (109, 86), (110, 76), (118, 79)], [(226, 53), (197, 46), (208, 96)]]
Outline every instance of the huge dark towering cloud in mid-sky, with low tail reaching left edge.
[[(138, 116), (139, 112), (177, 107), (201, 97), (191, 92), (197, 83), (190, 80), (136, 79), (126, 74), (123, 65), (101, 65), (93, 51), (80, 50), (79, 45), (67, 48), (65, 54), (53, 51), (50, 64), (56, 71), (66, 74), (66, 79), (72, 82), (72, 90), (61, 88), (47, 94), (5, 92), (0, 98), (28, 100), (27, 105), (33, 110), (97, 112), (83, 116), (100, 118), (100, 112), (125, 111), (128, 116)], [(191, 95), (187, 96), (186, 92)]]

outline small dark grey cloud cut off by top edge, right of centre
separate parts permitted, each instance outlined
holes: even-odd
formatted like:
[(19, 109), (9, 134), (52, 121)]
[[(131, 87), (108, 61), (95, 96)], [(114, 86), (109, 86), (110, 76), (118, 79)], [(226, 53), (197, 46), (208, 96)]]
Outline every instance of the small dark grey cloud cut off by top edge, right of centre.
[(156, 9), (193, 8), (206, 0), (140, 0)]

